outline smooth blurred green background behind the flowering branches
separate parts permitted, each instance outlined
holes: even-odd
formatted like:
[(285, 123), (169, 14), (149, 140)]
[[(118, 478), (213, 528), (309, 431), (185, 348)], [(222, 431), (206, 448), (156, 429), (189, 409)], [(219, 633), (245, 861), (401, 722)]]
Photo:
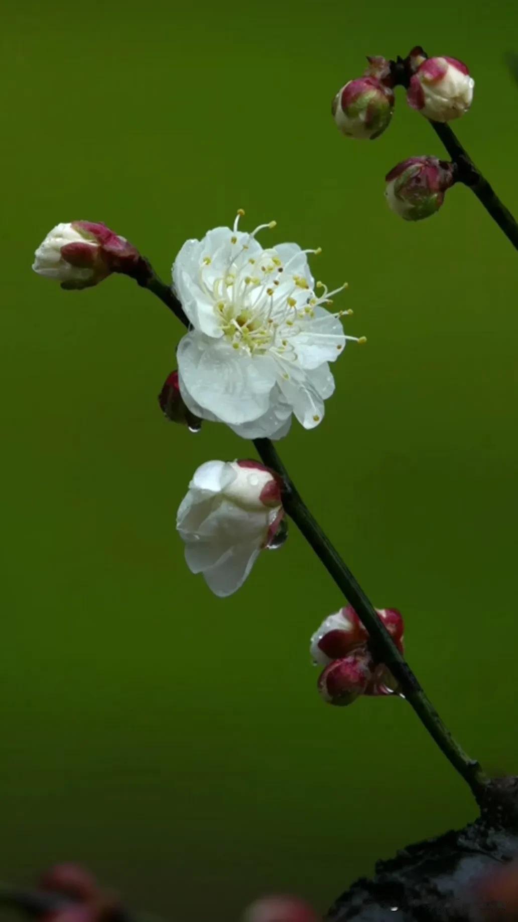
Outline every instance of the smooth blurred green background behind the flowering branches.
[[(191, 436), (157, 395), (182, 330), (129, 279), (31, 273), (58, 221), (102, 220), (164, 278), (187, 237), (276, 218), (344, 278), (324, 424), (280, 446), (378, 606), (406, 615), (433, 702), (489, 771), (518, 770), (518, 258), (476, 198), (406, 224), (383, 176), (443, 156), (402, 91), (375, 144), (330, 100), (364, 54), (465, 60), (459, 136), (518, 211), (518, 7), (26, 0), (3, 17), (3, 617), (0, 877), (88, 863), (171, 920), (265, 892), (320, 909), (377, 857), (464, 824), (464, 783), (399, 700), (326, 707), (308, 642), (341, 599), (300, 536), (242, 590), (188, 573), (174, 518), (194, 468), (250, 455)], [(268, 238), (273, 240), (272, 238)]]

